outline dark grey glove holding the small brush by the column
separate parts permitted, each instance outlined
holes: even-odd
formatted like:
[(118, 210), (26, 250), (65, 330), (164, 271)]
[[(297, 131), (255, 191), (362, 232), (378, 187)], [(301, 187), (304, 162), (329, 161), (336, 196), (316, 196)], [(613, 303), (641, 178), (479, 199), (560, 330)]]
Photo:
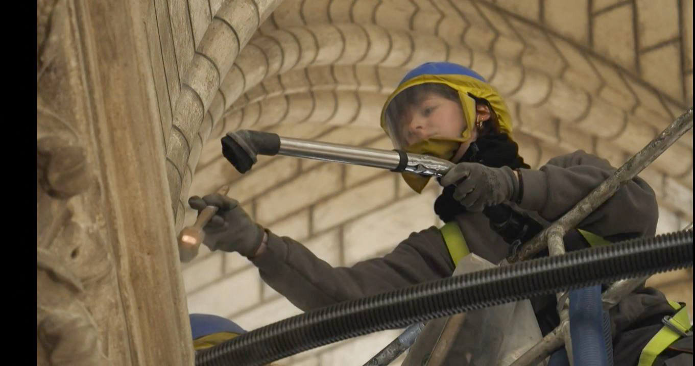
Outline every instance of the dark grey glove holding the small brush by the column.
[(190, 197), (188, 204), (198, 210), (198, 215), (207, 206), (217, 206), (218, 212), (203, 228), (205, 244), (211, 251), (237, 251), (242, 256), (251, 258), (261, 247), (263, 228), (253, 222), (239, 206), (236, 199), (222, 194), (208, 194), (200, 198)]

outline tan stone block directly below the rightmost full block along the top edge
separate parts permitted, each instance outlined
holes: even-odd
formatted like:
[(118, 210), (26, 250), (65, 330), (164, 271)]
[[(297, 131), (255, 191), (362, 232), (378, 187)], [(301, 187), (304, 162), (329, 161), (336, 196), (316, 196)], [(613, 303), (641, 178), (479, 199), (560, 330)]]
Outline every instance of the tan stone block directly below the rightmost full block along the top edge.
[(683, 99), (680, 45), (666, 44), (639, 56), (642, 78), (676, 100)]

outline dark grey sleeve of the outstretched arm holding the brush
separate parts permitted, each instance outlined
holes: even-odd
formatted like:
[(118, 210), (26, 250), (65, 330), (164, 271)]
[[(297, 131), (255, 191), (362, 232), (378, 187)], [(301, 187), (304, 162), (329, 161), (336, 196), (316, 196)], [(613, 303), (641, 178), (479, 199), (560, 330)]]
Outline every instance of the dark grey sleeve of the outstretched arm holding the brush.
[(252, 260), (261, 278), (304, 311), (450, 276), (454, 270), (439, 229), (412, 233), (382, 258), (332, 267), (304, 245), (268, 231), (266, 251)]

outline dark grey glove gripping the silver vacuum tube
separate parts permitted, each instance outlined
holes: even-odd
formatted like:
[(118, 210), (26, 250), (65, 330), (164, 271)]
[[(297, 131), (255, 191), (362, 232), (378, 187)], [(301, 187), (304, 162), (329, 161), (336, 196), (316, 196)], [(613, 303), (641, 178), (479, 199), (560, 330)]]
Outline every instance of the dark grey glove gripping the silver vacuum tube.
[(459, 163), (443, 178), (441, 185), (456, 185), (454, 199), (466, 210), (481, 212), (487, 206), (514, 201), (518, 181), (509, 167), (493, 168), (480, 163)]

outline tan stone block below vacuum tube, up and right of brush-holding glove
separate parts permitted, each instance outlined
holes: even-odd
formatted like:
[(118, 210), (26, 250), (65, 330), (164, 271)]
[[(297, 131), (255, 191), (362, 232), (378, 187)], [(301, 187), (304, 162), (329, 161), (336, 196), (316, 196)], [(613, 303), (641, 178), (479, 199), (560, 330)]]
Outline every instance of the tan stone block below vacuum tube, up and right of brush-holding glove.
[(340, 172), (338, 165), (325, 165), (271, 190), (259, 197), (256, 219), (259, 222), (272, 222), (312, 202), (325, 199), (340, 189)]

